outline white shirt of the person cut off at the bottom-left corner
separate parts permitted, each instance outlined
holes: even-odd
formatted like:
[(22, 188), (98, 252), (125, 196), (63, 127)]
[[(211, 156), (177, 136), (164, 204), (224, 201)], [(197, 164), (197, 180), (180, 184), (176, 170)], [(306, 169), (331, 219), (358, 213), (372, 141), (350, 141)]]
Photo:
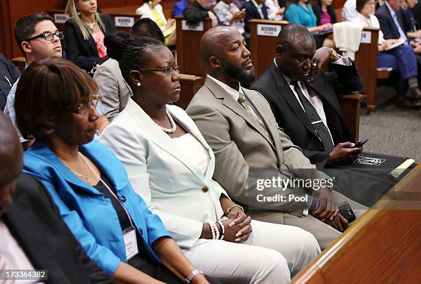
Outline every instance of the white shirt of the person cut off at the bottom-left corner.
[[(23, 252), (21, 245), (10, 233), (9, 228), (0, 220), (0, 270), (34, 270), (34, 266)], [(2, 280), (4, 281), (4, 280)], [(10, 280), (2, 284), (32, 284), (41, 283), (29, 280)]]

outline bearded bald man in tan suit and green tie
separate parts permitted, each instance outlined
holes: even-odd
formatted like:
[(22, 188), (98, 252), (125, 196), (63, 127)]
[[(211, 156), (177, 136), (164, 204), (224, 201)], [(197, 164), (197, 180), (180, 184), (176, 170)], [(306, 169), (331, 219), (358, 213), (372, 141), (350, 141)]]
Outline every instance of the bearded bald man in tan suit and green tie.
[(357, 218), (365, 208), (332, 191), (333, 179), (279, 129), (263, 96), (241, 87), (255, 70), (237, 30), (208, 30), (200, 52), (208, 76), (186, 111), (215, 152), (214, 179), (254, 219), (301, 227), (326, 248), (348, 225), (336, 204), (348, 201)]

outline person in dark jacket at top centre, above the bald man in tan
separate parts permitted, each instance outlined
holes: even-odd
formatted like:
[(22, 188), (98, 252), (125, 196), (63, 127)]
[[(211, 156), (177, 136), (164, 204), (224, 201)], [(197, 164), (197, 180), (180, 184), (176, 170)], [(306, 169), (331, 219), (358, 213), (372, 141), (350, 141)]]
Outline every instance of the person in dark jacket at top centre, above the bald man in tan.
[(210, 18), (211, 25), (222, 25), (218, 17), (213, 11), (213, 0), (196, 0), (193, 3), (188, 4), (186, 10), (184, 10), (184, 19), (187, 23), (199, 23), (204, 21), (206, 18)]

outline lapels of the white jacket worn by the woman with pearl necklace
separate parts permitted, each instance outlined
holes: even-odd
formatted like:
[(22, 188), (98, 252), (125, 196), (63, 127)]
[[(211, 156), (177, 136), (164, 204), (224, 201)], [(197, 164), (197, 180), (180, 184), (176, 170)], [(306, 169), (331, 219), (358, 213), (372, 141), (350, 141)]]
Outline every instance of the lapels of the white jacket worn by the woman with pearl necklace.
[[(202, 172), (200, 171), (197, 164), (191, 161), (191, 159), (186, 156), (184, 153), (180, 152), (173, 142), (172, 138), (169, 137), (160, 127), (155, 124), (155, 122), (148, 116), (144, 110), (139, 107), (136, 102), (131, 98), (127, 102), (126, 110), (131, 116), (131, 118), (140, 126), (141, 131), (145, 133), (145, 136), (149, 138), (154, 144), (159, 146), (163, 151), (166, 151), (177, 160), (182, 162), (193, 174), (195, 174), (199, 179), (203, 179)], [(173, 111), (170, 111), (173, 115)], [(174, 116), (178, 123), (182, 124), (186, 130), (191, 131), (191, 127), (188, 127), (184, 122), (181, 121), (180, 117)]]

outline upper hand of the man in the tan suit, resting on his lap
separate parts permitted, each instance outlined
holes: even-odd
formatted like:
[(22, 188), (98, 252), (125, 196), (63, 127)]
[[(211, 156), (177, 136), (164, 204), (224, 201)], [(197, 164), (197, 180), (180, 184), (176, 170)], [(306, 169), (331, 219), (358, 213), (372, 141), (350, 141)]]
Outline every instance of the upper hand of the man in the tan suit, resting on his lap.
[(339, 209), (334, 202), (332, 193), (327, 188), (314, 190), (313, 199), (319, 202), (319, 206), (312, 205), (313, 209), (310, 211), (310, 214), (314, 217), (321, 219), (321, 221), (332, 221), (339, 214)]

